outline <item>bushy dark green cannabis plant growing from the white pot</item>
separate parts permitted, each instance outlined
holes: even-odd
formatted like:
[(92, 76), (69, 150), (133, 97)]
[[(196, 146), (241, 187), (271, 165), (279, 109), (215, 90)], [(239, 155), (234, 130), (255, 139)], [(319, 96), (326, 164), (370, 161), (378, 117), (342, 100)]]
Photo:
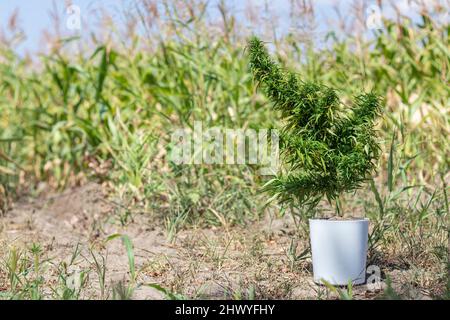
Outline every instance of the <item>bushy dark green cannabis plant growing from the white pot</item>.
[(313, 208), (325, 196), (339, 214), (339, 195), (360, 187), (375, 169), (380, 99), (362, 93), (348, 106), (333, 88), (281, 68), (256, 37), (249, 41), (249, 55), (255, 80), (283, 119), (283, 168), (264, 190), (300, 208)]

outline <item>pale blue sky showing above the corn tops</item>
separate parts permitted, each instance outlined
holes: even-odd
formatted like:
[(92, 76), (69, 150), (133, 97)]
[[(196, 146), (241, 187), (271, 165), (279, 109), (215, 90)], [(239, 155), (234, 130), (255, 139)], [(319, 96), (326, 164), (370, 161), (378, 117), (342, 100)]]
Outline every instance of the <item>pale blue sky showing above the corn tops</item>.
[[(212, 2), (216, 1), (217, 0), (213, 0)], [(239, 12), (244, 11), (246, 1), (251, 1), (253, 4), (259, 5), (260, 7), (263, 7), (265, 3), (264, 0), (226, 0), (228, 6), (231, 7), (233, 11), (238, 12), (238, 15)], [(441, 1), (445, 2), (446, 0)], [(88, 17), (89, 19), (89, 15), (87, 15), (86, 13), (92, 12), (95, 8), (103, 7), (110, 11), (118, 12), (118, 10), (120, 10), (122, 6), (130, 3), (130, 0), (72, 0), (71, 2), (80, 7), (83, 19), (85, 19), (86, 17)], [(366, 2), (369, 5), (371, 3), (375, 3), (375, 1), (370, 0)], [(411, 10), (410, 0), (397, 0), (395, 2), (403, 10), (403, 13), (412, 13), (413, 10)], [(0, 28), (7, 33), (6, 26), (8, 24), (9, 17), (15, 10), (18, 10), (18, 23), (26, 34), (26, 40), (21, 43), (18, 49), (19, 51), (37, 49), (39, 48), (42, 40), (42, 31), (46, 29), (52, 30), (53, 23), (50, 17), (50, 12), (53, 8), (54, 3), (57, 4), (60, 15), (66, 17), (66, 1), (64, 0), (0, 0)], [(286, 24), (287, 19), (284, 19), (284, 17), (286, 17), (289, 12), (289, 0), (268, 1), (268, 3), (271, 10), (275, 10), (276, 14), (280, 17), (278, 27), (280, 29), (285, 28), (286, 26), (284, 24)], [(326, 21), (327, 19), (333, 19), (333, 5), (335, 5), (336, 3), (340, 4), (344, 13), (348, 12), (348, 8), (346, 8), (346, 5), (348, 6), (350, 1), (314, 1), (314, 4), (316, 6), (316, 16), (319, 32), (325, 32), (328, 28), (328, 24), (326, 23)], [(385, 13), (386, 15), (389, 15), (389, 10), (386, 9), (386, 12), (384, 12), (383, 14)], [(60, 24), (61, 29), (64, 30), (65, 21), (62, 21)]]

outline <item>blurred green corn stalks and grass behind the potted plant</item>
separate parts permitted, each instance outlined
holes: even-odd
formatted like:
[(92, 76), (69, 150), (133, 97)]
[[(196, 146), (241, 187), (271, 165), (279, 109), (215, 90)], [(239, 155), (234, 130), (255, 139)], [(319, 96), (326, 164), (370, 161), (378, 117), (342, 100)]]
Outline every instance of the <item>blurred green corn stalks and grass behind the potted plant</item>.
[[(223, 28), (212, 29), (203, 6), (175, 6), (167, 3), (168, 19), (155, 22), (149, 34), (106, 26), (109, 39), (87, 41), (80, 53), (72, 53), (77, 39), (55, 39), (51, 53), (33, 60), (17, 55), (14, 45), (1, 45), (3, 208), (15, 195), (39, 192), (40, 182), (64, 188), (93, 178), (109, 182), (127, 205), (169, 216), (171, 230), (185, 221), (241, 223), (264, 212), (267, 199), (259, 191), (266, 181), (254, 166), (176, 166), (166, 159), (170, 133), (196, 120), (258, 129), (285, 116), (255, 90), (245, 52), (249, 34), (233, 14), (221, 7)], [(449, 28), (424, 13), (419, 23), (386, 20), (368, 39), (330, 32), (320, 47), (295, 34), (262, 38), (305, 83), (336, 89), (321, 89), (332, 100), (329, 115), (337, 95), (343, 105), (355, 92), (384, 97), (384, 117), (375, 128), (382, 151), (375, 186), (434, 190), (449, 171)], [(323, 178), (321, 190), (330, 196), (359, 183), (342, 173), (330, 189), (334, 180)]]

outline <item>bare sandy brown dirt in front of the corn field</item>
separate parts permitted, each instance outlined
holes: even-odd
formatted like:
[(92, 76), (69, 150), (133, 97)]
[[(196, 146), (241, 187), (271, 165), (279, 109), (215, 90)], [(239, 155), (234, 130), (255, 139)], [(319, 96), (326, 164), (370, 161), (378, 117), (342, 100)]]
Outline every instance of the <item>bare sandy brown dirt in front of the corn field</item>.
[[(337, 298), (336, 292), (313, 283), (307, 237), (298, 240), (289, 217), (266, 217), (229, 229), (192, 227), (169, 242), (163, 222), (148, 214), (133, 214), (132, 221), (123, 226), (114, 214), (115, 207), (95, 183), (58, 195), (22, 199), (0, 217), (0, 259), (5, 261), (11, 247), (26, 250), (39, 243), (49, 292), (57, 281), (56, 266), (65, 263), (74, 286), (77, 273), (88, 271), (80, 298), (110, 298), (114, 284), (129, 282), (130, 268), (122, 241), (105, 239), (126, 234), (134, 246), (138, 283), (134, 299), (163, 299), (160, 291), (146, 285), (150, 283), (189, 299)], [(106, 259), (103, 294), (93, 257)], [(404, 291), (411, 272), (396, 267), (383, 270), (398, 291)], [(6, 278), (0, 274), (0, 281)], [(7, 290), (3, 282), (0, 290), (2, 285)], [(353, 288), (354, 299), (374, 299), (382, 293), (367, 285)], [(408, 297), (427, 299), (428, 293), (408, 288)]]

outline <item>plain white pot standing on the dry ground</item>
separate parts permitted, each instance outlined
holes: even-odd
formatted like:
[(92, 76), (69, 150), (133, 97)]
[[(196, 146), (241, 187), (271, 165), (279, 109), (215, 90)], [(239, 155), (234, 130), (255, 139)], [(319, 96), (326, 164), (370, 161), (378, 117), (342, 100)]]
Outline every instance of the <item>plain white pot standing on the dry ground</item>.
[(332, 285), (366, 281), (369, 220), (310, 219), (314, 282)]

